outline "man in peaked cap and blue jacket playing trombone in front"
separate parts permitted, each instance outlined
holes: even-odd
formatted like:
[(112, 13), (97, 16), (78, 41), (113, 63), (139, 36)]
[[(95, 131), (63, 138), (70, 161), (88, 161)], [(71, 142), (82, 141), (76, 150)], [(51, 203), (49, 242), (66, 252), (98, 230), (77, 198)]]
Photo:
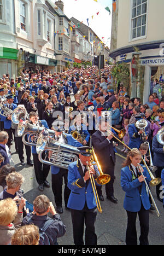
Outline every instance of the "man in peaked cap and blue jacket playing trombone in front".
[[(97, 245), (97, 235), (95, 233), (97, 206), (90, 174), (97, 178), (95, 174), (98, 172), (98, 168), (96, 165), (88, 164), (91, 155), (92, 148), (81, 147), (78, 161), (72, 162), (68, 166), (68, 188), (71, 189), (68, 207), (71, 208), (75, 245), (84, 245), (84, 223), (86, 226), (85, 245)], [(86, 165), (89, 165), (90, 170), (87, 170)]]

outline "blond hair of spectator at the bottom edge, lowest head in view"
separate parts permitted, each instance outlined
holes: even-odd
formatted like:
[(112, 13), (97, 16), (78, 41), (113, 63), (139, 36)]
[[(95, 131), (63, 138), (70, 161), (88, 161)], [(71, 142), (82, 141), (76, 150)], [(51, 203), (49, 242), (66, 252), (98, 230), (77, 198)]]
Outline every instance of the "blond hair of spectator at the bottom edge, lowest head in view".
[(11, 245), (38, 245), (39, 228), (33, 224), (21, 226), (11, 238)]

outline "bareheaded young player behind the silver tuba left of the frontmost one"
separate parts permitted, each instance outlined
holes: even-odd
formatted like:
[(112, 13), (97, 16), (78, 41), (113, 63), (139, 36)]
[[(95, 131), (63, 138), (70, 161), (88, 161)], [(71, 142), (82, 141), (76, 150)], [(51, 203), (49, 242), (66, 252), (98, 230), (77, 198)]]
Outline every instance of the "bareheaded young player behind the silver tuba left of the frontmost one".
[[(36, 112), (31, 112), (29, 114), (30, 118), (30, 124), (36, 125), (36, 126), (44, 126), (45, 128), (49, 129), (48, 124), (45, 120), (39, 120), (38, 115)], [(31, 141), (33, 140), (34, 136), (31, 136)], [(38, 159), (38, 154), (36, 151), (36, 147), (32, 146), (32, 155), (33, 155), (33, 165), (34, 165), (34, 171), (36, 174), (36, 180), (39, 184), (38, 189), (40, 191), (44, 190), (44, 186), (49, 188), (50, 184), (48, 181), (46, 181), (46, 178), (48, 177), (50, 166), (46, 164), (42, 164), (42, 162)]]

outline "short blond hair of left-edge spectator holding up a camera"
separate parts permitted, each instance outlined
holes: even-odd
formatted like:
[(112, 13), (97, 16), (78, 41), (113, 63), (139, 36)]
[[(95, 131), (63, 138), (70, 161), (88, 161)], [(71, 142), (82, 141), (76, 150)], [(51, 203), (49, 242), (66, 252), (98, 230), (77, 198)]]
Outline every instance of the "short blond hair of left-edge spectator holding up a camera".
[(18, 186), (21, 186), (21, 184), (24, 183), (25, 181), (22, 174), (18, 172), (9, 173), (5, 180), (6, 180), (8, 189), (14, 189)]

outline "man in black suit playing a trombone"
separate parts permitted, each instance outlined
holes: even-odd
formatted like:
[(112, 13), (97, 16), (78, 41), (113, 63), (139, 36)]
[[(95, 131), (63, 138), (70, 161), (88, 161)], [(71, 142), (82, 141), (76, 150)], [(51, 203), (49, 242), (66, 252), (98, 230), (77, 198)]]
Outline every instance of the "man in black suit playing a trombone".
[[(114, 197), (114, 166), (115, 166), (115, 153), (113, 150), (113, 136), (107, 135), (107, 120), (101, 119), (99, 129), (92, 135), (92, 144), (95, 148), (95, 153), (99, 164), (102, 167), (103, 173), (109, 174), (111, 179), (106, 184), (107, 199), (116, 203), (118, 200)], [(101, 201), (104, 201), (102, 196), (101, 187), (97, 188), (98, 196)]]

